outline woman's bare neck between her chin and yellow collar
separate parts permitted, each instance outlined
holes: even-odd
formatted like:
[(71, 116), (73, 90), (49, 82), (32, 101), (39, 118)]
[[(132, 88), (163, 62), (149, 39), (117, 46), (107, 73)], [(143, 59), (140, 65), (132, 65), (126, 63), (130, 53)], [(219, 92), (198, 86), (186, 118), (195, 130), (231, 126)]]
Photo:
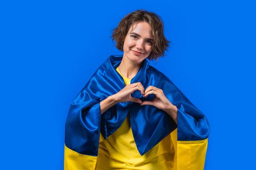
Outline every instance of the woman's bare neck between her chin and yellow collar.
[(141, 67), (141, 63), (134, 63), (131, 60), (129, 60), (127, 57), (123, 56), (122, 61), (120, 65), (118, 66), (118, 69), (122, 76), (132, 79), (136, 74), (138, 73), (138, 70)]

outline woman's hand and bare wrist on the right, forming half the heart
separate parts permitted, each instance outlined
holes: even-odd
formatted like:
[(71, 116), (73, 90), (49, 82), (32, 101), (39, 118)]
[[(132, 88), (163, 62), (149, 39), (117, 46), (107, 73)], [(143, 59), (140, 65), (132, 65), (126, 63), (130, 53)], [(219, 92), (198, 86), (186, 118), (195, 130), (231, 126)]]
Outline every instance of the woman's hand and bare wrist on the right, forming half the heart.
[(154, 94), (155, 97), (153, 101), (144, 101), (140, 105), (156, 106), (158, 109), (162, 109), (167, 112), (177, 123), (177, 107), (166, 98), (162, 89), (150, 85), (146, 88), (144, 93), (144, 98), (146, 98), (149, 94)]

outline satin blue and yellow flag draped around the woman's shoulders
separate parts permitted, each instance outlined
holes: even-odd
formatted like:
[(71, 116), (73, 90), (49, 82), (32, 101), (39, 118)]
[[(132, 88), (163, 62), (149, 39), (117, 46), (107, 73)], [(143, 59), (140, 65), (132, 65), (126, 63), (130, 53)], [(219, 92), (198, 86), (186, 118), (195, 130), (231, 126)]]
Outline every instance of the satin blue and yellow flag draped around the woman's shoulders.
[[(121, 126), (129, 113), (141, 155), (177, 128), (177, 169), (186, 170), (189, 166), (189, 170), (203, 170), (210, 131), (208, 120), (168, 77), (150, 66), (147, 59), (131, 84), (140, 82), (145, 89), (149, 85), (162, 89), (168, 100), (177, 106), (178, 124), (165, 111), (135, 102), (118, 102), (101, 115), (99, 103), (125, 86), (116, 71), (121, 60), (121, 55), (109, 56), (71, 103), (65, 124), (64, 169), (94, 170), (100, 133), (106, 139)], [(154, 95), (144, 98), (140, 91), (136, 91), (132, 97), (152, 101)]]

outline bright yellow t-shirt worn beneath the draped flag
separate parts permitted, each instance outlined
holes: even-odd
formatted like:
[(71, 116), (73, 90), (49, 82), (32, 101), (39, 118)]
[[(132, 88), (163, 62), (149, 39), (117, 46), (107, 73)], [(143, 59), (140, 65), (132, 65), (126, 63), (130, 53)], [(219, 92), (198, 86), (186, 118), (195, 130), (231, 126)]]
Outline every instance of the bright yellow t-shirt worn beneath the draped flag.
[[(116, 70), (121, 75), (118, 68)], [(129, 85), (131, 80), (122, 77), (125, 85)], [(128, 114), (118, 130), (106, 140), (100, 134), (96, 170), (176, 170), (177, 136), (172, 135), (175, 133), (166, 136), (141, 156), (134, 141), (129, 118)]]

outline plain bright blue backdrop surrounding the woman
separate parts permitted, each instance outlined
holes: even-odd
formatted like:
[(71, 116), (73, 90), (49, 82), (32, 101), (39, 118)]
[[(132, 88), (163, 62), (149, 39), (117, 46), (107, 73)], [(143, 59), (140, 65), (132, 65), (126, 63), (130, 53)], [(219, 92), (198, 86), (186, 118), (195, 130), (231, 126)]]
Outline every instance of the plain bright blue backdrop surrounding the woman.
[(256, 5), (249, 0), (0, 2), (0, 169), (63, 169), (70, 103), (111, 54), (112, 30), (146, 9), (172, 41), (151, 62), (209, 119), (205, 170), (254, 167)]

